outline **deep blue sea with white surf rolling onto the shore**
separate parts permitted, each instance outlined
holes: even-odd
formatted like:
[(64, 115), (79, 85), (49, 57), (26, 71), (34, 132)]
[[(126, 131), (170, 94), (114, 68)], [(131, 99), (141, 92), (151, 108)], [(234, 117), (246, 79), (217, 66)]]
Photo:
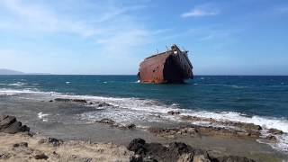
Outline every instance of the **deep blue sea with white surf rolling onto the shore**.
[[(166, 113), (179, 111), (220, 121), (255, 123), (264, 128), (263, 135), (267, 129), (283, 130), (271, 146), (288, 152), (288, 76), (194, 76), (175, 85), (140, 84), (137, 76), (0, 76), (0, 98), (17, 96), (29, 100), (78, 98), (113, 105), (101, 111), (69, 112), (67, 108), (65, 113), (80, 121), (106, 117), (146, 127), (149, 122), (175, 122), (179, 119)], [(0, 109), (4, 107), (0, 105)], [(37, 112), (43, 121), (52, 120), (53, 113), (55, 110)], [(159, 115), (164, 118), (160, 120)]]

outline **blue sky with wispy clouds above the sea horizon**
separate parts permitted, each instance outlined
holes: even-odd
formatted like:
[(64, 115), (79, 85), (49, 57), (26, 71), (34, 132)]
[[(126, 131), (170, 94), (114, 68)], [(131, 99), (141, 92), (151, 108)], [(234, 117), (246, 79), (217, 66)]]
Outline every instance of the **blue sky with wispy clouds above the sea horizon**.
[(0, 68), (136, 75), (174, 43), (195, 75), (288, 75), (288, 1), (0, 0)]

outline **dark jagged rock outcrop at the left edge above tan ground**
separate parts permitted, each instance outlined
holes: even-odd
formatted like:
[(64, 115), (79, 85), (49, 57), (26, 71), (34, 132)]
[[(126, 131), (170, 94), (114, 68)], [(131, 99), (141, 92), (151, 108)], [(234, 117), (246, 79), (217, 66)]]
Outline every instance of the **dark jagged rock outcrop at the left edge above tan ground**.
[(30, 128), (22, 125), (22, 122), (17, 121), (16, 117), (9, 115), (0, 116), (0, 132), (14, 134), (23, 131), (30, 131)]

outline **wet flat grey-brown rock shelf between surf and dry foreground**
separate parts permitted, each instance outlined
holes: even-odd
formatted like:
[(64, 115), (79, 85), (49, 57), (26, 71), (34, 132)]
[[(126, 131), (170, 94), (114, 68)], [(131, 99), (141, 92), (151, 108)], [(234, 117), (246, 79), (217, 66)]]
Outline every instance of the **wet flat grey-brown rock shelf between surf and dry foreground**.
[[(215, 157), (232, 155), (248, 157), (256, 161), (281, 161), (288, 159), (288, 155), (284, 152), (277, 151), (267, 144), (257, 142), (257, 139), (261, 138), (259, 134), (261, 127), (255, 124), (188, 116), (174, 110), (174, 112), (166, 112), (162, 115), (166, 115), (168, 118), (181, 119), (181, 122), (151, 122), (152, 124), (149, 123), (149, 127), (142, 127), (135, 122), (135, 125), (129, 129), (127, 122), (112, 121), (112, 119), (104, 118), (104, 116), (94, 121), (75, 121), (76, 119), (71, 118), (72, 116), (69, 115), (63, 116), (60, 113), (53, 117), (50, 112), (47, 113), (44, 109), (39, 110), (40, 107), (49, 108), (51, 112), (63, 112), (63, 114), (66, 114), (67, 110), (72, 110), (75, 113), (80, 109), (81, 111), (92, 111), (92, 109), (95, 111), (94, 107), (96, 105), (100, 108), (100, 113), (105, 106), (110, 105), (110, 103), (105, 101), (97, 103), (88, 99), (57, 98), (53, 96), (45, 96), (34, 100), (33, 97), (31, 96), (33, 100), (31, 98), (23, 98), (22, 95), (2, 97), (0, 107), (4, 108), (4, 106), (7, 106), (7, 108), (0, 113), (17, 116), (17, 119), (30, 126), (31, 130), (37, 131), (40, 136), (64, 139), (64, 141), (112, 142), (117, 146), (127, 147), (132, 139), (141, 138), (147, 142), (157, 142), (165, 146), (175, 141), (184, 142), (193, 148), (207, 150), (208, 153)], [(8, 99), (6, 103), (3, 102), (4, 98)], [(90, 105), (90, 102), (93, 102), (93, 106)], [(24, 111), (28, 112), (21, 111), (23, 108), (27, 108)], [(24, 114), (29, 115), (26, 116)], [(162, 115), (154, 117), (162, 119)], [(102, 120), (105, 121), (103, 122)], [(225, 127), (207, 127), (195, 124), (195, 122), (199, 121)], [(226, 127), (229, 129), (225, 129)], [(239, 129), (230, 130), (233, 127), (238, 127)], [(274, 131), (274, 135), (283, 133), (279, 130)], [(269, 138), (268, 140), (274, 142), (275, 138), (273, 136)]]

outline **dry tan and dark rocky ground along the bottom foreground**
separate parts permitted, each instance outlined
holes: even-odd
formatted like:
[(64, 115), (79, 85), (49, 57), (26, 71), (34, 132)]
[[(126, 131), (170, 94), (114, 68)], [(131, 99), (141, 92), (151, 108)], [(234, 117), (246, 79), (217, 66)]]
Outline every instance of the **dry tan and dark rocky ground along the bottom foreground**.
[[(109, 120), (99, 122), (115, 125)], [(130, 125), (125, 129), (134, 127)], [(164, 146), (160, 143), (147, 143), (144, 139), (133, 139), (126, 148), (111, 143), (41, 137), (9, 115), (0, 115), (0, 143), (0, 161), (254, 161), (247, 157), (212, 157), (206, 150), (196, 149), (182, 142), (172, 142)]]

